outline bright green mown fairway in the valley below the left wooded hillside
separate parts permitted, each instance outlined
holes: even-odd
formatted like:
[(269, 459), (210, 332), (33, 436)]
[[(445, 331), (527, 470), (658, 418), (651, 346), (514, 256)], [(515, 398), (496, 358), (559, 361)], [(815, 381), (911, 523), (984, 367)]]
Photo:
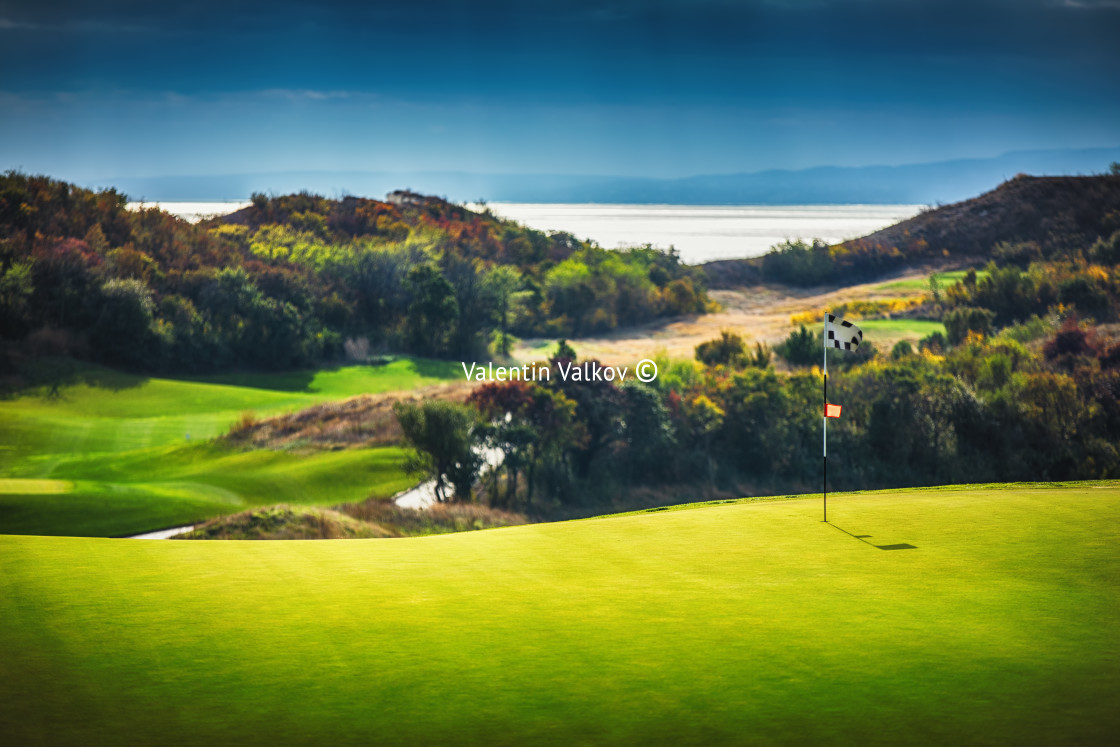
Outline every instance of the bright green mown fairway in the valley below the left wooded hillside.
[(26, 391), (0, 409), (0, 532), (113, 536), (254, 505), (392, 495), (414, 482), (396, 448), (304, 455), (205, 441), (246, 411), (284, 412), (457, 374), (458, 364), (420, 358), (189, 381), (83, 367), (82, 383), (49, 396)]

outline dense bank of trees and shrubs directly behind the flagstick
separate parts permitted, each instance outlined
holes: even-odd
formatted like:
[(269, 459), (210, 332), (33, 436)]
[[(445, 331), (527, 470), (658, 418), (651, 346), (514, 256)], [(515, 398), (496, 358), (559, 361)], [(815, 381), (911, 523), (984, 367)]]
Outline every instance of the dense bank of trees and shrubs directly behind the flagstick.
[[(449, 501), (541, 515), (819, 489), (821, 339), (795, 332), (778, 354), (799, 344), (812, 363), (792, 373), (744, 345), (726, 363), (660, 361), (650, 384), (486, 384), (465, 404), (403, 405), (404, 436)], [(831, 357), (832, 489), (1120, 477), (1114, 326), (1052, 315)]]

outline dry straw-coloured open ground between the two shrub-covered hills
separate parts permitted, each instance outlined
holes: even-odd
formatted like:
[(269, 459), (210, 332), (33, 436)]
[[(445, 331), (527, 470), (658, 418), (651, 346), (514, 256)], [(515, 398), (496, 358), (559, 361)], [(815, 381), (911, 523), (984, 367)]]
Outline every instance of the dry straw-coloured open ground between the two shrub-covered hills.
[[(735, 290), (713, 290), (709, 295), (722, 309), (715, 314), (661, 319), (638, 327), (619, 329), (599, 337), (569, 340), (581, 358), (598, 358), (607, 364), (633, 365), (651, 355), (665, 353), (672, 358), (691, 358), (697, 345), (730, 329), (748, 344), (774, 345), (794, 329), (790, 317), (805, 311), (823, 311), (856, 300), (875, 300), (916, 296), (884, 286), (899, 280), (928, 277), (927, 271), (913, 271), (897, 278), (877, 280), (844, 288), (787, 288), (785, 286), (752, 286)], [(889, 351), (902, 339), (889, 334), (876, 334), (879, 351)], [(556, 349), (554, 342), (544, 338), (523, 339), (514, 348), (517, 361), (543, 361)]]

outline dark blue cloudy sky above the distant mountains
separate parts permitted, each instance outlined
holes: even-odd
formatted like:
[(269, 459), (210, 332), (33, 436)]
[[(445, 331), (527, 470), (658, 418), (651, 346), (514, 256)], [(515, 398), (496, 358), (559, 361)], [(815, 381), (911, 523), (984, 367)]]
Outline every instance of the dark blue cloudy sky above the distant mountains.
[(1120, 0), (0, 1), (0, 168), (682, 177), (1113, 147), (1118, 39)]

